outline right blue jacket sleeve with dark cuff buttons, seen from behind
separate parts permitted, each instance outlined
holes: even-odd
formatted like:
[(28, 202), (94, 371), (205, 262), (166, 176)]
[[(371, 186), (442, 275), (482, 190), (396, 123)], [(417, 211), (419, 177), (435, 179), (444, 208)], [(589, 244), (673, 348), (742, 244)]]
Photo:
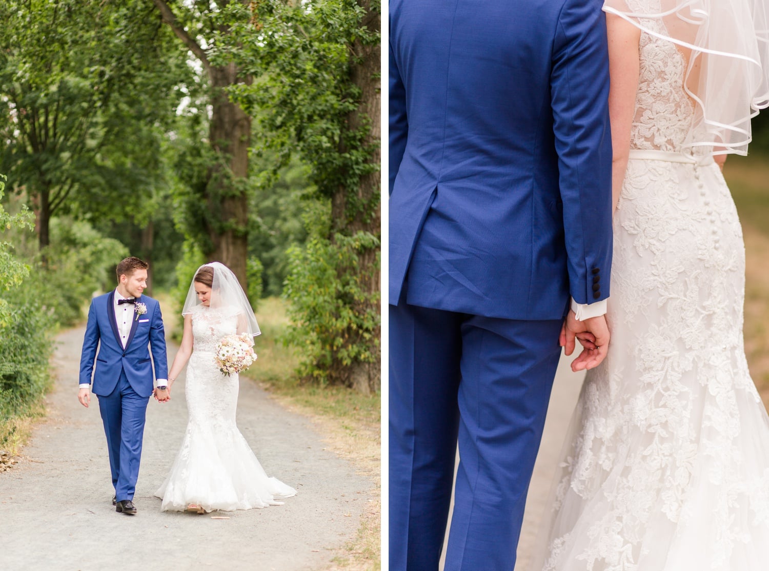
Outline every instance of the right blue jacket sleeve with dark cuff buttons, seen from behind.
[(609, 295), (611, 131), (606, 19), (599, 0), (567, 0), (554, 38), (551, 106), (571, 297)]

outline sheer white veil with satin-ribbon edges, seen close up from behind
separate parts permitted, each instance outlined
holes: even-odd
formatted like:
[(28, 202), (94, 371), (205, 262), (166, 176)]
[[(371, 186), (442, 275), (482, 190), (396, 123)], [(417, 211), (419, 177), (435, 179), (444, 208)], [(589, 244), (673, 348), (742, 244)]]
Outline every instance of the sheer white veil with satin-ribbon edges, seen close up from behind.
[(747, 154), (751, 118), (769, 107), (766, 0), (605, 0), (604, 11), (691, 50), (684, 88), (695, 119), (684, 146)]

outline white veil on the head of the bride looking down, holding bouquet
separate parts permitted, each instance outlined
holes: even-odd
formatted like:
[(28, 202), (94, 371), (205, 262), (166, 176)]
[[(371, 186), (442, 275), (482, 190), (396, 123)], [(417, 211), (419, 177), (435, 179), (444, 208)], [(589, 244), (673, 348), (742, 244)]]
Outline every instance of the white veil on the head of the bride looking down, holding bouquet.
[[(222, 318), (237, 316), (239, 334), (248, 333), (251, 336), (260, 334), (261, 331), (256, 323), (254, 310), (251, 309), (248, 297), (246, 297), (235, 274), (225, 264), (211, 262), (211, 264), (203, 264), (198, 267), (195, 276), (205, 267), (211, 268), (213, 271), (209, 310)], [(181, 314), (192, 314), (198, 305), (200, 305), (200, 301), (198, 294), (195, 293), (195, 277), (193, 276)]]

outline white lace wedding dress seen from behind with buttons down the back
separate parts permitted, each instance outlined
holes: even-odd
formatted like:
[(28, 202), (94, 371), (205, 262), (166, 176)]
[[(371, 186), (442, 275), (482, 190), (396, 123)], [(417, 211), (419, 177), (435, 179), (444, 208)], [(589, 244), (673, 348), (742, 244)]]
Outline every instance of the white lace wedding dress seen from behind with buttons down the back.
[(769, 418), (744, 354), (740, 222), (714, 161), (681, 153), (684, 55), (647, 33), (640, 47), (611, 346), (584, 381), (533, 568), (766, 571)]

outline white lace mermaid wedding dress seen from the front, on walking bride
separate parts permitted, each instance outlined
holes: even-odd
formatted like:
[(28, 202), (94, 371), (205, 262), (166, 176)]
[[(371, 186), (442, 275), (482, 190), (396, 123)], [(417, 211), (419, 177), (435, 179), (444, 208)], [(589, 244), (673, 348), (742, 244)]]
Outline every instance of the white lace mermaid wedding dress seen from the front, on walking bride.
[(235, 334), (237, 316), (197, 306), (192, 313), (194, 347), (187, 366), (188, 423), (181, 450), (155, 496), (161, 510), (250, 510), (276, 506), (296, 490), (268, 477), (235, 425), (238, 375), (225, 376), (214, 361), (216, 344)]

